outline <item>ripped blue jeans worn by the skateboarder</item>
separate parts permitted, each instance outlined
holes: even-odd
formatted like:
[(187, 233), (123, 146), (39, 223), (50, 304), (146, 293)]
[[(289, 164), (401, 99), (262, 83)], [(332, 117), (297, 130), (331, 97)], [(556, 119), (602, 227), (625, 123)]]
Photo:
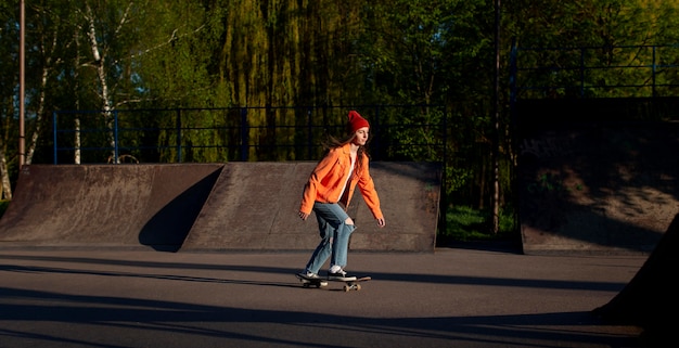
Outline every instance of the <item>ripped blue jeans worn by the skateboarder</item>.
[(354, 224), (347, 224), (349, 218), (346, 211), (336, 203), (313, 203), (313, 212), (318, 220), (318, 230), (321, 243), (311, 255), (307, 263), (307, 272), (317, 273), (323, 263), (332, 256), (330, 266), (337, 265), (344, 268), (347, 265), (349, 236), (356, 230)]

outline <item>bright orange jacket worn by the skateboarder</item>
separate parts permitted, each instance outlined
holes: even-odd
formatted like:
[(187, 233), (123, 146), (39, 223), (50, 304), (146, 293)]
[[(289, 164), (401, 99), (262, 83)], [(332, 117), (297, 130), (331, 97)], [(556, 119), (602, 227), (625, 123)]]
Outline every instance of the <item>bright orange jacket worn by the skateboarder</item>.
[[(299, 211), (311, 214), (315, 202), (337, 203), (340, 193), (346, 180), (351, 166), (350, 144), (331, 149), (325, 157), (323, 157), (309, 177), (309, 181), (304, 186), (302, 195), (302, 206)], [(351, 172), (351, 179), (347, 182), (347, 208), (354, 196), (354, 189), (358, 184), (363, 201), (375, 219), (383, 218), (380, 209), (380, 197), (375, 191), (375, 184), (370, 177), (368, 168), (368, 156), (363, 156), (361, 169), (357, 172), (356, 168)]]

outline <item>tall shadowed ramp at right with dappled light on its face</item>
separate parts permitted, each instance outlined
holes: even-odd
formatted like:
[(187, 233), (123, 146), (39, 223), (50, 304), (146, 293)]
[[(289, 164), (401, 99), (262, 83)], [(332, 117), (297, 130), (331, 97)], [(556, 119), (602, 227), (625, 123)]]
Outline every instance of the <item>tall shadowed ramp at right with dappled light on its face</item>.
[(679, 211), (679, 124), (625, 119), (622, 101), (523, 106), (524, 254), (651, 253)]

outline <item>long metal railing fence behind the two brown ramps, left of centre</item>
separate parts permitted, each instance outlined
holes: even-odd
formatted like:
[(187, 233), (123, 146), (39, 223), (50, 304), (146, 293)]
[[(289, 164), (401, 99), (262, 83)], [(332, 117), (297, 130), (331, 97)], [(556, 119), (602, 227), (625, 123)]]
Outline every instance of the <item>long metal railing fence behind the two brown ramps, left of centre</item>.
[(376, 160), (445, 162), (440, 105), (60, 111), (54, 164), (316, 160), (349, 109), (371, 124)]

